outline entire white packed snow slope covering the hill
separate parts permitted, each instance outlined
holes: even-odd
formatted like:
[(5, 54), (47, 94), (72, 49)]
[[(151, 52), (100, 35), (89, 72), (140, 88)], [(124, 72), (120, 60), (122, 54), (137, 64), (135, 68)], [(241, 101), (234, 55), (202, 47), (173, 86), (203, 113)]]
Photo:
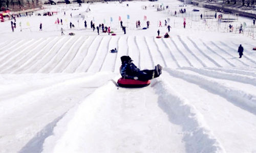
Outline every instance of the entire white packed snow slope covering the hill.
[[(14, 32), (0, 23), (0, 152), (256, 152), (252, 37), (178, 1), (44, 7), (16, 17)], [(48, 11), (57, 14), (37, 16)], [(158, 29), (168, 32), (164, 20), (170, 38), (158, 39)], [(91, 21), (116, 36), (98, 35)], [(244, 22), (252, 20), (232, 24)], [(160, 64), (162, 74), (144, 88), (117, 88), (123, 55), (140, 69)]]

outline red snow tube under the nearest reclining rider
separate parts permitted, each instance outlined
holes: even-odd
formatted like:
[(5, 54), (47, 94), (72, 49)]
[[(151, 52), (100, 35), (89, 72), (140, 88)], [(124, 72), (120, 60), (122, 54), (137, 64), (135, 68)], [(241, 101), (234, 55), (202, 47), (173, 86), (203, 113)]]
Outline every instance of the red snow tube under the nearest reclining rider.
[(133, 79), (123, 79), (120, 78), (117, 81), (118, 86), (125, 87), (125, 88), (141, 88), (150, 85), (150, 80), (147, 81), (139, 81)]

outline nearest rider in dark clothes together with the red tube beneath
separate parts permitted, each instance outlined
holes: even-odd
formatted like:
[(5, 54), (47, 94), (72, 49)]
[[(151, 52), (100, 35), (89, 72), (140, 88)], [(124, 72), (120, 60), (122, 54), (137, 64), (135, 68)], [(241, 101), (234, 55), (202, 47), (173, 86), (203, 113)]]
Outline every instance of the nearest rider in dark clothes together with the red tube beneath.
[(152, 70), (140, 70), (129, 56), (121, 57), (122, 65), (120, 73), (122, 78), (117, 81), (118, 86), (126, 88), (139, 88), (150, 85), (150, 80), (159, 77), (162, 73), (162, 66), (157, 65)]

